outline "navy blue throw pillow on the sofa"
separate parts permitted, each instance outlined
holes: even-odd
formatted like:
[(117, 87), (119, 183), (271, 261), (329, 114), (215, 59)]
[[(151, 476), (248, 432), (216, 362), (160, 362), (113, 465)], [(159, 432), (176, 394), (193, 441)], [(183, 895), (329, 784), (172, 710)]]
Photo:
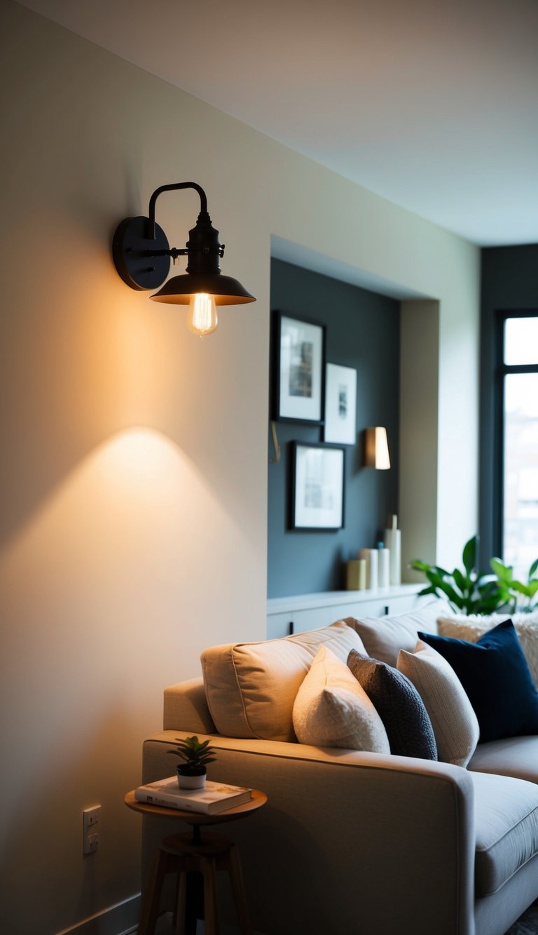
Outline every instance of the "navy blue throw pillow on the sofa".
[(450, 663), (473, 705), (480, 743), (538, 734), (538, 692), (511, 620), (476, 643), (419, 633)]

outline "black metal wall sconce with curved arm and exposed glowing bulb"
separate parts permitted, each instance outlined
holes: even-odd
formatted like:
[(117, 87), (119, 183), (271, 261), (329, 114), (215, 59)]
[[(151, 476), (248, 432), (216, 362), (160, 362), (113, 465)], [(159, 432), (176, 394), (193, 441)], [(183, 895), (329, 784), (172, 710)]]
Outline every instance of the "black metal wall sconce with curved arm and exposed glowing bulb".
[[(200, 214), (189, 231), (186, 249), (170, 247), (163, 228), (155, 223), (155, 202), (163, 192), (193, 188), (200, 195)], [(149, 297), (153, 302), (188, 305), (187, 327), (196, 335), (209, 335), (217, 327), (218, 305), (241, 305), (255, 302), (244, 286), (231, 276), (222, 276), (219, 258), (224, 245), (219, 243), (207, 213), (204, 189), (192, 181), (161, 185), (149, 198), (149, 216), (125, 218), (114, 234), (112, 256), (121, 279), (132, 289), (163, 288)], [(187, 272), (164, 282), (170, 270), (170, 257), (187, 256)], [(163, 285), (164, 282), (164, 285)]]

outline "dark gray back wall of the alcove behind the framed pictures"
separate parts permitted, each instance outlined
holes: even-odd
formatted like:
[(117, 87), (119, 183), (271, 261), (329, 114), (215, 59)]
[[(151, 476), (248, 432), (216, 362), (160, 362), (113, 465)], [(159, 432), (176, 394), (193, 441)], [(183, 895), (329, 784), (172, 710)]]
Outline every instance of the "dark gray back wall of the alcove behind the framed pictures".
[[(268, 597), (342, 590), (347, 559), (361, 547), (375, 547), (387, 516), (398, 511), (400, 305), (280, 260), (271, 264), (271, 305), (325, 324), (327, 362), (356, 368), (358, 445), (346, 446), (344, 528), (292, 531), (290, 441), (321, 441), (322, 430), (276, 423), (282, 458), (269, 465)], [(390, 470), (362, 467), (362, 432), (368, 425), (387, 427)]]

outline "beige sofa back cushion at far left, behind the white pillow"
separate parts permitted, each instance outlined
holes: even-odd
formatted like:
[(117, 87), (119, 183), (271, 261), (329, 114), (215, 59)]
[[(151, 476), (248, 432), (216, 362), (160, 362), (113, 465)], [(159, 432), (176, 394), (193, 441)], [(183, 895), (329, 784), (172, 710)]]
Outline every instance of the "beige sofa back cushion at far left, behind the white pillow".
[(282, 640), (228, 643), (202, 654), (202, 674), (211, 717), (227, 737), (294, 741), (293, 702), (319, 646), (347, 660), (363, 652), (357, 633), (343, 620)]

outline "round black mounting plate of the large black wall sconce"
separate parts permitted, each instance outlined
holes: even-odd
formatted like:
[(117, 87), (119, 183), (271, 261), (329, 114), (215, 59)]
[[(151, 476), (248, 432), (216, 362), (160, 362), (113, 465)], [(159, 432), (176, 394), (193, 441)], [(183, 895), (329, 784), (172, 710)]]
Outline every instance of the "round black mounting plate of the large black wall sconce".
[(158, 289), (170, 271), (170, 247), (163, 228), (155, 224), (148, 237), (149, 219), (125, 218), (112, 240), (112, 256), (121, 279), (138, 291)]

